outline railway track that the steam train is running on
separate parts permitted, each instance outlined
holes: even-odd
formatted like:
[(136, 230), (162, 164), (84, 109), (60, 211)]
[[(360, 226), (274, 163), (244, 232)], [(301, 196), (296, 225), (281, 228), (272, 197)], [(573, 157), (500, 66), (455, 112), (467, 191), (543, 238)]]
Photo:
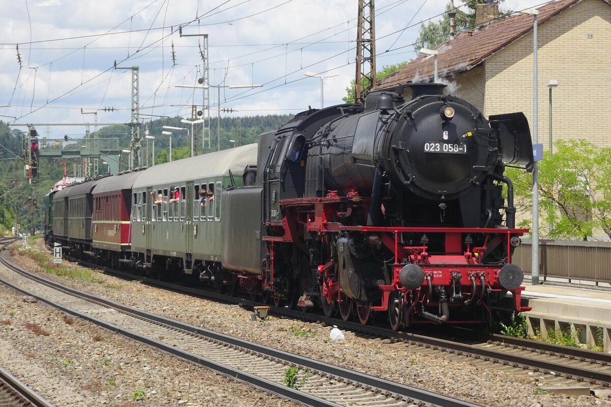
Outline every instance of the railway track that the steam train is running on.
[[(262, 305), (260, 302), (246, 298), (230, 297), (208, 290), (193, 289), (179, 284), (134, 276), (131, 273), (100, 267), (100, 265), (89, 262), (79, 262), (87, 267), (100, 268), (112, 275), (138, 279), (143, 283), (177, 292), (227, 303), (240, 303), (247, 307)], [(513, 369), (516, 372), (522, 370), (546, 375), (549, 378), (557, 378), (558, 380), (564, 379), (565, 382), (568, 381), (573, 384), (587, 385), (592, 389), (597, 387), (609, 388), (611, 384), (611, 355), (602, 352), (499, 334), (494, 334), (486, 340), (480, 340), (472, 337), (431, 336), (430, 333), (395, 332), (385, 328), (386, 325), (361, 325), (360, 323), (345, 322), (342, 319), (327, 318), (323, 315), (283, 307), (271, 306), (270, 311), (273, 314), (294, 319), (337, 325), (342, 330), (365, 334), (372, 338), (389, 339), (397, 342), (397, 344), (403, 344), (403, 346), (425, 353), (467, 359), (474, 364), (491, 369)]]

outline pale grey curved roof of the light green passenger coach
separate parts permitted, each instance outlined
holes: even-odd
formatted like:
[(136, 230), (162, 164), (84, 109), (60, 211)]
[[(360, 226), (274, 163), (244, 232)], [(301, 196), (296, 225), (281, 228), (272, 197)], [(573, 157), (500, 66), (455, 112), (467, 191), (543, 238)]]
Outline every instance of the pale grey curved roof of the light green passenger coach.
[(133, 188), (142, 189), (154, 185), (170, 185), (200, 178), (227, 176), (229, 170), (233, 175), (241, 176), (244, 168), (249, 164), (257, 164), (257, 144), (153, 165), (139, 173)]

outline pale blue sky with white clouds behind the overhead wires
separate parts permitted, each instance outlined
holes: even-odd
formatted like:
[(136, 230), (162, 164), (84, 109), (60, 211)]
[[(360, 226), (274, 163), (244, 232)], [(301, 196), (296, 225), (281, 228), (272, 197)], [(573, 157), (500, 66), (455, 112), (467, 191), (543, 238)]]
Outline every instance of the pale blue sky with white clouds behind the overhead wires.
[[(505, 0), (524, 10), (544, 0)], [(377, 0), (376, 65), (413, 59), (420, 24), (445, 0)], [(455, 5), (461, 5), (456, 0)], [(0, 0), (0, 120), (40, 123), (43, 137), (127, 123), (139, 67), (141, 123), (191, 118), (203, 104), (208, 35), (210, 116), (297, 113), (340, 104), (355, 76), (357, 0)], [(182, 35), (181, 35), (182, 34)], [(128, 68), (128, 69), (123, 69)], [(256, 88), (230, 88), (262, 85)], [(220, 93), (220, 99), (219, 99)], [(220, 100), (220, 104), (219, 104)], [(47, 126), (47, 124), (49, 124)], [(22, 125), (22, 126), (20, 126)]]

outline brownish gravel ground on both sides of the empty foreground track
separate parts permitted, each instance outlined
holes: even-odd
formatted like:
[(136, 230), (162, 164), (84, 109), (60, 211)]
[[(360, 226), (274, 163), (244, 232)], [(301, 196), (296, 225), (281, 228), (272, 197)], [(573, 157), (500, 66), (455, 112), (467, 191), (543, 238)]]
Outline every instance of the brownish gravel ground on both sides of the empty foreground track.
[[(37, 244), (42, 245), (42, 242), (37, 240)], [(31, 259), (18, 256), (16, 251), (14, 254), (16, 264), (28, 270), (37, 268)], [(488, 370), (468, 362), (407, 350), (403, 345), (387, 340), (371, 340), (345, 332), (344, 340), (332, 342), (329, 339), (331, 327), (317, 323), (273, 315), (268, 320), (252, 322), (251, 311), (236, 305), (192, 298), (103, 274), (100, 274), (99, 283), (45, 276), (148, 312), (485, 406), (611, 406), (610, 398), (541, 394), (538, 385), (546, 383), (538, 375)], [(111, 405), (122, 405), (131, 400), (136, 387), (144, 389), (150, 405), (175, 405), (178, 400), (188, 397), (205, 406), (290, 404), (271, 400), (268, 395), (252, 392), (241, 384), (229, 383), (203, 369), (197, 369), (195, 375), (195, 368), (186, 362), (85, 322), (75, 320), (68, 325), (59, 312), (24, 301), (26, 297), (21, 295), (8, 293), (10, 290), (2, 287), (0, 301), (6, 312), (14, 309), (15, 314), (0, 314), (0, 321), (12, 322), (0, 325), (0, 365), (15, 371), (27, 363), (27, 372), (21, 367), (18, 377), (29, 380), (40, 370), (46, 378), (54, 378), (43, 380), (38, 375), (29, 380), (37, 383), (38, 389), (43, 386), (39, 383), (45, 383), (45, 389), (57, 394), (57, 389), (75, 387), (80, 389), (76, 394), (82, 395), (83, 400), (91, 397), (98, 400), (91, 405), (100, 405), (103, 399)], [(26, 322), (40, 323), (51, 335), (35, 336), (23, 328)], [(111, 362), (104, 366), (107, 359)], [(66, 360), (70, 364), (64, 366)], [(115, 386), (109, 386), (110, 380), (114, 380)], [(156, 393), (152, 394), (153, 391)], [(82, 405), (82, 402), (75, 404), (75, 400), (56, 397), (51, 397), (51, 400), (58, 406)]]

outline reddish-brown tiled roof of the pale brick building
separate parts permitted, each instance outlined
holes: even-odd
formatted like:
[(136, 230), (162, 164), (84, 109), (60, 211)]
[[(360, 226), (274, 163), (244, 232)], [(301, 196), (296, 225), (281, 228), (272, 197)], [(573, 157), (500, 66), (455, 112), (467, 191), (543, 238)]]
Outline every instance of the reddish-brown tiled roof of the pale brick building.
[[(537, 25), (573, 7), (582, 0), (559, 0), (539, 7)], [(611, 0), (602, 0), (610, 4)], [(532, 15), (515, 15), (474, 32), (463, 32), (453, 40), (437, 46), (437, 72), (440, 77), (456, 74), (476, 67), (500, 49), (505, 48), (532, 31)], [(420, 55), (404, 67), (385, 77), (376, 90), (390, 89), (410, 82), (420, 82), (433, 76), (434, 57)], [(420, 79), (420, 80), (419, 80)]]

